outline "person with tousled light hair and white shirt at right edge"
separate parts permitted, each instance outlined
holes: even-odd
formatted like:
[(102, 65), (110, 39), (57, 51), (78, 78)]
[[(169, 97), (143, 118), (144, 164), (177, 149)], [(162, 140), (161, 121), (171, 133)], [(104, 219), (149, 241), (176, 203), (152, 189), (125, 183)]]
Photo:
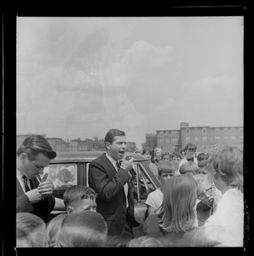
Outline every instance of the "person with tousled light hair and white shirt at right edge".
[(243, 166), (243, 152), (237, 147), (223, 145), (211, 153), (207, 168), (222, 198), (205, 221), (205, 225), (222, 225), (230, 230), (238, 241), (236, 244), (241, 246), (244, 238)]

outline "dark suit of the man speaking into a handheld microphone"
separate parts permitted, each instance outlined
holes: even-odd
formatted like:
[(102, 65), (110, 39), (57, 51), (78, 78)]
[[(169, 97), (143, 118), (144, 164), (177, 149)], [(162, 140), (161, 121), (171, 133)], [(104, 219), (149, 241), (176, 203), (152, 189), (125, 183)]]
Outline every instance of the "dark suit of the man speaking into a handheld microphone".
[(89, 187), (98, 194), (97, 212), (107, 222), (107, 245), (118, 244), (122, 240), (126, 221), (130, 227), (139, 225), (134, 218), (134, 197), (130, 183), (129, 207), (126, 211), (124, 184), (130, 177), (124, 169), (120, 168), (117, 172), (106, 154), (101, 154), (89, 164)]

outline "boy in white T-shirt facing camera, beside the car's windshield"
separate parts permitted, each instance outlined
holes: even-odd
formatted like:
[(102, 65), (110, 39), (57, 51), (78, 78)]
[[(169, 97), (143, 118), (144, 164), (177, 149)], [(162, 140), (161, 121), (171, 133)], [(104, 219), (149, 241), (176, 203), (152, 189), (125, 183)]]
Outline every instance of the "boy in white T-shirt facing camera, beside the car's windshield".
[(167, 179), (176, 174), (176, 165), (170, 160), (163, 160), (158, 165), (158, 177), (161, 187), (147, 196), (147, 215), (158, 213), (163, 201), (163, 186)]

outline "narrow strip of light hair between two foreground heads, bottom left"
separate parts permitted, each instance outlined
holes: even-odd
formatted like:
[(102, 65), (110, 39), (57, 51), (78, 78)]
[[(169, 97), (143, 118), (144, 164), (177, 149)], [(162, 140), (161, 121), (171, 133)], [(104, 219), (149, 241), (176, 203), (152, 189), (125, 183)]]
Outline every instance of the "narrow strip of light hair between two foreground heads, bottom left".
[(61, 222), (63, 221), (64, 218), (66, 218), (66, 213), (61, 213), (59, 215), (56, 215), (55, 218), (52, 218), (48, 222), (46, 226), (46, 236), (47, 236), (47, 242), (49, 247), (54, 247), (56, 232), (58, 231), (61, 225)]

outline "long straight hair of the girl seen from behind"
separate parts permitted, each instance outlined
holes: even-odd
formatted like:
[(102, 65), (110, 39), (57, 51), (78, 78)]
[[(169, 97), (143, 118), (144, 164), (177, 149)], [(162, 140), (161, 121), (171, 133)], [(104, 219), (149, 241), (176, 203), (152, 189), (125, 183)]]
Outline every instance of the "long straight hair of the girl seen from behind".
[(162, 209), (158, 216), (159, 226), (169, 232), (185, 232), (194, 227), (197, 200), (197, 183), (191, 176), (170, 177), (163, 188)]

